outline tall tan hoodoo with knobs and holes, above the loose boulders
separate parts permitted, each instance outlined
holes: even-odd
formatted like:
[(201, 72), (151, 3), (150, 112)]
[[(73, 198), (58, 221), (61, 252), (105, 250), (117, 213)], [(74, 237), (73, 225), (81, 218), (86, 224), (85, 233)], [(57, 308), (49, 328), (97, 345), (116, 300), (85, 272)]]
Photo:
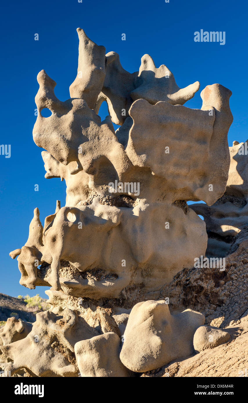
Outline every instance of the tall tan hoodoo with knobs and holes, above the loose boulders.
[[(149, 55), (139, 72), (128, 73), (118, 54), (105, 55), (77, 31), (71, 98), (56, 98), (56, 83), (44, 70), (35, 98), (34, 141), (46, 150), (45, 177), (65, 179), (66, 205), (57, 202), (44, 226), (36, 209), (27, 243), (11, 256), (19, 255), (20, 283), (51, 286), (51, 299), (60, 293), (133, 306), (158, 298), (161, 287), (205, 254), (205, 222), (187, 201), (210, 206), (225, 192), (231, 91), (208, 85), (202, 108), (187, 108), (198, 81), (179, 88)], [(101, 121), (103, 101), (109, 116)], [(42, 116), (44, 108), (50, 117)], [(112, 122), (120, 125), (116, 131)]]

